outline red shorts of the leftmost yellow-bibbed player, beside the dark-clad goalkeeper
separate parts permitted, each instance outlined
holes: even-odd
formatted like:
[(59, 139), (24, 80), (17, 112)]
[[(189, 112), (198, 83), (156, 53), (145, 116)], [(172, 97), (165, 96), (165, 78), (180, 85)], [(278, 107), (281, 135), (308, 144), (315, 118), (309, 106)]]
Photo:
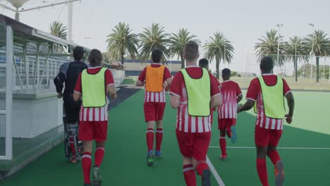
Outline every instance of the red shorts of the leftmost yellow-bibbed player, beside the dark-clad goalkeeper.
[(80, 121), (79, 140), (104, 142), (108, 130), (108, 121)]

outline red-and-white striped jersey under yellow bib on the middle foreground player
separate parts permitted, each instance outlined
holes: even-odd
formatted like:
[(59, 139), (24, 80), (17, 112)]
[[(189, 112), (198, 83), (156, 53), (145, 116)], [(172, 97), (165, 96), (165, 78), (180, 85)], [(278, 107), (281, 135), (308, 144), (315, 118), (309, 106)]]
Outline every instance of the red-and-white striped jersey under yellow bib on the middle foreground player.
[[(200, 78), (202, 76), (202, 68), (198, 66), (192, 66), (185, 69), (190, 77)], [(209, 76), (211, 81), (211, 96), (214, 97), (215, 95), (220, 94), (220, 92), (212, 75), (209, 74)], [(183, 80), (181, 72), (176, 73), (173, 77), (170, 94), (180, 97), (181, 102), (176, 116), (176, 130), (191, 133), (211, 132), (211, 115), (206, 117), (189, 115), (187, 91), (185, 89), (185, 81)]]

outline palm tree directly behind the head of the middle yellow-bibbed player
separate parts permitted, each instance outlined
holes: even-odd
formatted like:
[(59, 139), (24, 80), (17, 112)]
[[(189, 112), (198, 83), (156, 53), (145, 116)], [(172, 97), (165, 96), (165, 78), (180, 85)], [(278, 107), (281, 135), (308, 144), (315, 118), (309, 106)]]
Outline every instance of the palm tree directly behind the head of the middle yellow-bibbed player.
[(172, 34), (171, 36), (171, 56), (178, 56), (178, 58), (181, 58), (181, 68), (185, 68), (185, 60), (183, 59), (183, 48), (185, 47), (185, 44), (193, 40), (197, 43), (200, 43), (197, 39), (194, 39), (195, 35), (190, 35), (190, 32), (188, 32), (187, 29), (180, 29), (178, 31), (178, 34)]

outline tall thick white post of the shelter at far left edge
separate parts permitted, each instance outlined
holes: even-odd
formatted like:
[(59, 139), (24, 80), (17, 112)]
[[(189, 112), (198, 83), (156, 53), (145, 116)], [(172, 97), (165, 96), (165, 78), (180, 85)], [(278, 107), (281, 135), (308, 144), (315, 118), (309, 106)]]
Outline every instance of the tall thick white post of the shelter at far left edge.
[(6, 28), (6, 159), (13, 159), (13, 139), (11, 137), (11, 113), (13, 104), (13, 29)]

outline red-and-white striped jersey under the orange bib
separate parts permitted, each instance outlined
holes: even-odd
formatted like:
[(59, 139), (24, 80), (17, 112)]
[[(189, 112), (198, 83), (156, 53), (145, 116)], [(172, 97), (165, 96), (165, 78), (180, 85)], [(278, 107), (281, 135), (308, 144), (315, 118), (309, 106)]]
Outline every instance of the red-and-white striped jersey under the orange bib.
[[(151, 66), (153, 68), (157, 68), (157, 67), (160, 67), (161, 64), (153, 63)], [(146, 75), (147, 75), (147, 70), (145, 68), (144, 70), (142, 70), (142, 73), (138, 77), (138, 81), (145, 82)], [(166, 80), (169, 80), (170, 78), (172, 78), (172, 75), (171, 75), (169, 69), (165, 67), (163, 81), (165, 82)], [(165, 86), (164, 86), (164, 90), (161, 92), (148, 92), (147, 90), (145, 90), (145, 102), (166, 103)]]

